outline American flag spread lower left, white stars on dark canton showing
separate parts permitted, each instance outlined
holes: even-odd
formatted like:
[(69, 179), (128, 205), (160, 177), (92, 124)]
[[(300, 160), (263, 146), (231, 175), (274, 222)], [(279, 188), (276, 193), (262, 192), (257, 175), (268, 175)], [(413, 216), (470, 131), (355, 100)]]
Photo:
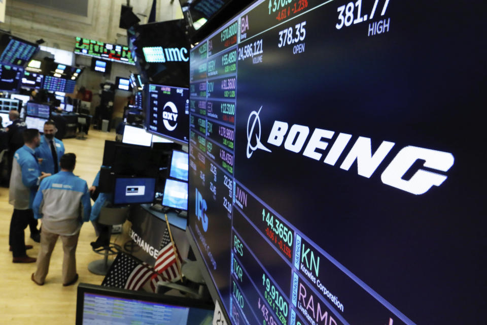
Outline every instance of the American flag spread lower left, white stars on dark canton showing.
[(139, 290), (153, 275), (154, 270), (147, 264), (142, 264), (133, 256), (119, 252), (101, 285)]

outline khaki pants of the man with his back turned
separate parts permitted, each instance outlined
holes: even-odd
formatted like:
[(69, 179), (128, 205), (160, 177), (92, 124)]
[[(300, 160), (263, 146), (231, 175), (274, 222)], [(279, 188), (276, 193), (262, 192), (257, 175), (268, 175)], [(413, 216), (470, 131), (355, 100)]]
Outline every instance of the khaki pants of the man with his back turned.
[(60, 236), (49, 233), (44, 228), (41, 231), (41, 250), (37, 257), (37, 271), (34, 273), (34, 279), (38, 283), (44, 283), (49, 271), (49, 262), (51, 254), (56, 245), (58, 237), (61, 237), (64, 257), (62, 261), (62, 283), (66, 284), (72, 281), (76, 276), (76, 246), (80, 233), (73, 236)]

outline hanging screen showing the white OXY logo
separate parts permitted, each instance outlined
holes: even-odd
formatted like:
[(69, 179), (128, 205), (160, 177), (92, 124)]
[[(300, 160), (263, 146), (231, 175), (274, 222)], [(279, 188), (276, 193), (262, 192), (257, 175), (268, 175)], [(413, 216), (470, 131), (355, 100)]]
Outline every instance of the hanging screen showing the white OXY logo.
[(147, 131), (188, 143), (189, 89), (147, 85)]

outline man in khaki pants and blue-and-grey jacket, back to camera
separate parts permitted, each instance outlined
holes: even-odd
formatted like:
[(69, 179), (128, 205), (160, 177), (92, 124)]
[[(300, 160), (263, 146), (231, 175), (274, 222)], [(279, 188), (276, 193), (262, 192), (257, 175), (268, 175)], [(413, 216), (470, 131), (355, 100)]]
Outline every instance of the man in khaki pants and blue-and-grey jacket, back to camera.
[(46, 279), (58, 237), (61, 237), (64, 251), (62, 283), (66, 286), (78, 280), (76, 246), (81, 225), (90, 219), (91, 201), (86, 181), (73, 174), (75, 165), (74, 153), (63, 155), (61, 171), (41, 182), (34, 199), (34, 217), (42, 218), (42, 232), (37, 271), (32, 273), (31, 279), (39, 285)]

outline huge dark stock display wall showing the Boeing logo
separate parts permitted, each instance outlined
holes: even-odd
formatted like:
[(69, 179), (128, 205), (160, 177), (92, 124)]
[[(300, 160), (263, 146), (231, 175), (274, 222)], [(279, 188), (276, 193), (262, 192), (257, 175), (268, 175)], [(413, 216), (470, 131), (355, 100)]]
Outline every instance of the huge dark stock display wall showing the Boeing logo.
[(189, 228), (233, 324), (480, 319), (481, 10), (446, 7), (258, 1), (192, 49)]

